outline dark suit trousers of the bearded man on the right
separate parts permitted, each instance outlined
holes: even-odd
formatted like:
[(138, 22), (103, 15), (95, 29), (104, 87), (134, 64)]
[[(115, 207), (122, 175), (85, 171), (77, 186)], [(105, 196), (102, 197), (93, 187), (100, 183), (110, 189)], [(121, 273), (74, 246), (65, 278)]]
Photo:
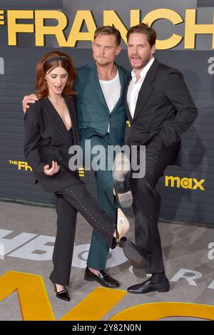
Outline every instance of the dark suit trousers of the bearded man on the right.
[(166, 147), (156, 134), (146, 145), (146, 174), (143, 178), (131, 179), (133, 211), (135, 215), (136, 245), (148, 254), (148, 273), (164, 272), (158, 218), (161, 196), (156, 185), (165, 168), (178, 154), (179, 145)]

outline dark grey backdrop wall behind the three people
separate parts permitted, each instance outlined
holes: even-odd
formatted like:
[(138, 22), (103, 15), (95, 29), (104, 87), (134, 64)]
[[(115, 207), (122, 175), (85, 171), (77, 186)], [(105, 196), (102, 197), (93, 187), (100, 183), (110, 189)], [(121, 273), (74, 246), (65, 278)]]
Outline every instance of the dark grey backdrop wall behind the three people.
[[(4, 9), (3, 4), (5, 5), (5, 2), (0, 0), (0, 10)], [(7, 8), (13, 2), (10, 1)], [(54, 3), (54, 1), (52, 2)], [(9, 2), (7, 3), (9, 4)], [(125, 11), (124, 3), (123, 6), (122, 3), (123, 1), (118, 0), (115, 6), (110, 6), (110, 1), (96, 1), (96, 4), (98, 4), (98, 7), (96, 7), (95, 3), (89, 6), (88, 1), (82, 2), (81, 5), (78, 4), (78, 1), (63, 1), (63, 11), (70, 12), (73, 9), (76, 12), (78, 6), (81, 6), (79, 8), (85, 7), (85, 9), (91, 8), (94, 11), (97, 10), (96, 19), (99, 21), (101, 20), (101, 13), (98, 14), (98, 11), (101, 8), (113, 8), (124, 13), (123, 19), (127, 21), (127, 10)], [(126, 0), (126, 9), (128, 6), (129, 8), (140, 8), (139, 3), (140, 1), (131, 2)], [(170, 1), (161, 1), (161, 3), (168, 3), (168, 8), (172, 8)], [(36, 9), (36, 6), (31, 5), (32, 8)], [(196, 8), (197, 1), (178, 1), (176, 6), (180, 11), (181, 9), (184, 11), (185, 8), (190, 8), (190, 6)], [(143, 4), (143, 6), (141, 4), (142, 7), (144, 11), (151, 11), (154, 8), (161, 8), (161, 5), (159, 1), (151, 1), (151, 3)], [(21, 6), (21, 1), (19, 2), (19, 8), (24, 9), (24, 6)], [(54, 9), (54, 5), (51, 8)], [(53, 203), (54, 197), (52, 195), (44, 193), (39, 185), (34, 186), (32, 172), (25, 171), (23, 168), (18, 170), (17, 165), (9, 164), (9, 160), (24, 161), (24, 127), (21, 100), (27, 93), (34, 92), (36, 63), (44, 53), (52, 50), (52, 48), (35, 47), (31, 44), (7, 46), (6, 31), (1, 26), (0, 34), (0, 57), (4, 58), (4, 75), (0, 75), (0, 197)], [(85, 48), (83, 48), (83, 44), (81, 43), (77, 48), (62, 49), (73, 58), (76, 67), (92, 60), (88, 42), (85, 43), (87, 44)], [(179, 168), (169, 167), (165, 171), (165, 175), (178, 176), (180, 179), (186, 177), (195, 178), (198, 181), (205, 180), (203, 182), (205, 191), (192, 190), (183, 187), (165, 187), (164, 176), (158, 184), (158, 190), (163, 198), (161, 217), (188, 222), (210, 222), (214, 225), (214, 77), (212, 63), (208, 62), (209, 58), (213, 57), (213, 51), (211, 48), (207, 51), (202, 51), (200, 48), (193, 51), (173, 48), (172, 50), (157, 51), (156, 56), (159, 61), (179, 68), (183, 72), (190, 93), (199, 110), (198, 119), (190, 130), (183, 135), (183, 166)], [(118, 63), (130, 68), (125, 48), (118, 56)], [(128, 131), (127, 128), (126, 133)], [(86, 172), (83, 180), (88, 184), (93, 195), (96, 196), (93, 173)], [(131, 210), (128, 212), (131, 213)]]

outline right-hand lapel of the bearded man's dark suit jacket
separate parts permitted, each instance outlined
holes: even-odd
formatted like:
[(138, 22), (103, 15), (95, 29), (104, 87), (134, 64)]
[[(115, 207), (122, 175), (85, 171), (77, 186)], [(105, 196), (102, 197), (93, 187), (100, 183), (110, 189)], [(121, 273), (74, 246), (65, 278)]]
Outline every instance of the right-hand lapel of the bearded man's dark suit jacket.
[(155, 59), (153, 62), (151, 68), (148, 70), (148, 73), (146, 73), (146, 78), (143, 81), (143, 84), (141, 86), (141, 90), (138, 94), (138, 100), (136, 103), (136, 110), (134, 113), (133, 121), (136, 120), (139, 113), (143, 109), (143, 106), (146, 103), (146, 100), (151, 95), (151, 92), (153, 91), (153, 81), (156, 79), (156, 71), (159, 66), (159, 62)]

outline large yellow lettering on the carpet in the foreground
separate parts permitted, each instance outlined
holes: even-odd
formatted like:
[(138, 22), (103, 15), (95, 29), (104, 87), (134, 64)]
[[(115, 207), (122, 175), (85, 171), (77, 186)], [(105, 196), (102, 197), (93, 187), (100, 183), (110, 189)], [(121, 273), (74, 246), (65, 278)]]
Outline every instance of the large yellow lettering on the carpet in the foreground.
[[(41, 276), (9, 271), (0, 277), (0, 287), (0, 301), (17, 291), (21, 316), (24, 321), (56, 320)], [(126, 294), (127, 292), (121, 289), (98, 287), (62, 316), (60, 321), (101, 320)], [(91, 306), (93, 306), (93, 310), (91, 310)], [(168, 316), (192, 316), (213, 320), (214, 306), (184, 302), (140, 304), (119, 311), (110, 320), (152, 321)]]

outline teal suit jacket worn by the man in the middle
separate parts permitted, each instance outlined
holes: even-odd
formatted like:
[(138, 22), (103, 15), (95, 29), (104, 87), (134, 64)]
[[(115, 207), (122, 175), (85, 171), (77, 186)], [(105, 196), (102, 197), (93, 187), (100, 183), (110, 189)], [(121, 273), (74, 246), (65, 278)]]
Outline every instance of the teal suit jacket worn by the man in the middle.
[(123, 145), (126, 128), (126, 108), (124, 89), (128, 81), (128, 71), (118, 66), (121, 81), (121, 96), (110, 113), (98, 79), (96, 63), (90, 63), (77, 69), (77, 118), (81, 143), (92, 135), (107, 135), (110, 124), (109, 144)]

